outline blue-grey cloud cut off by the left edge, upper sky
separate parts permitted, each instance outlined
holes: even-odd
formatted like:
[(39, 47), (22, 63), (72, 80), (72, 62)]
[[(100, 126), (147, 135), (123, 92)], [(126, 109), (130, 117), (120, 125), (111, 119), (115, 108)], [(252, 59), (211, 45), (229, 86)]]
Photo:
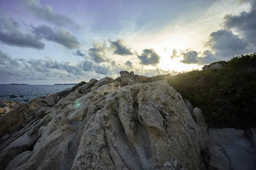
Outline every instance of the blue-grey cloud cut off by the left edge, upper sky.
[(19, 23), (6, 15), (0, 19), (0, 42), (10, 46), (44, 49), (45, 44), (40, 38), (26, 32), (21, 32)]

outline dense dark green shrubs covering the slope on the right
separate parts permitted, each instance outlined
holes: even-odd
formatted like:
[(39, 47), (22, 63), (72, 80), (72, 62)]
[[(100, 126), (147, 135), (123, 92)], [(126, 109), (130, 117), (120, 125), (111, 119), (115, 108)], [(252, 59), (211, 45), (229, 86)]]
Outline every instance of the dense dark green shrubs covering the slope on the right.
[(185, 72), (167, 82), (202, 110), (209, 126), (256, 127), (256, 53), (221, 64), (223, 69)]

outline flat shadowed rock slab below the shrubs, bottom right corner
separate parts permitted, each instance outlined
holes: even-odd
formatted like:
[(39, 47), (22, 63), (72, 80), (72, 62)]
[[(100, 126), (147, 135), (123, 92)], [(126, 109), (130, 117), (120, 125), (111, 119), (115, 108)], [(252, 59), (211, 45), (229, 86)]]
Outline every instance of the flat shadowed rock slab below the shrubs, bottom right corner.
[(218, 170), (256, 169), (256, 129), (209, 129), (210, 165)]

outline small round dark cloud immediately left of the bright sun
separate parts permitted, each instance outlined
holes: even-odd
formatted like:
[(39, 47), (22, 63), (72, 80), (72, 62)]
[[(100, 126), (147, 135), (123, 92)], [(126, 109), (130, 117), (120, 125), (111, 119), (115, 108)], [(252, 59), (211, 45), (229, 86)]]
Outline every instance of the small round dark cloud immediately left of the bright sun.
[(143, 49), (143, 53), (141, 55), (137, 55), (137, 57), (143, 65), (155, 66), (160, 62), (160, 56), (154, 51), (154, 49)]

